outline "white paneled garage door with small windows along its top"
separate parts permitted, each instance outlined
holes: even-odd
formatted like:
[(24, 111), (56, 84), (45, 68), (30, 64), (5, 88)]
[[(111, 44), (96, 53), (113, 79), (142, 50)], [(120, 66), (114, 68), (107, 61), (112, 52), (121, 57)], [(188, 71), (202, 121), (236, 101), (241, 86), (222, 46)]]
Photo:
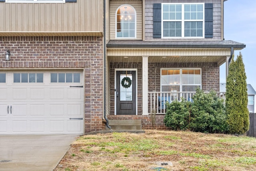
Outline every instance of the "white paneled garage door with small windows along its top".
[(0, 71), (0, 134), (84, 133), (80, 71)]

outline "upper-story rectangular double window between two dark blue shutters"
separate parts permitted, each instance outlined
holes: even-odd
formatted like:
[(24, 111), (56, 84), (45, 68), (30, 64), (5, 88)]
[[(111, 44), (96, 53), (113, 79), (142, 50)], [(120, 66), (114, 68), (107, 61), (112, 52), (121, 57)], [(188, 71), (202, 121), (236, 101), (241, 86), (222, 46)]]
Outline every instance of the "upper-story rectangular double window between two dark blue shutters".
[(162, 38), (204, 38), (204, 3), (162, 3)]

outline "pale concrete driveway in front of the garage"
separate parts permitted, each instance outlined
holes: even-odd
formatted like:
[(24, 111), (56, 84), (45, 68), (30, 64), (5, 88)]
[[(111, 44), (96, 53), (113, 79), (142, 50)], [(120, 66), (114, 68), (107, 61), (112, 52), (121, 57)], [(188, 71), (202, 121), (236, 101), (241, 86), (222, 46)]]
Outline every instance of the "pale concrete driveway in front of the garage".
[(52, 171), (79, 135), (0, 135), (0, 171)]

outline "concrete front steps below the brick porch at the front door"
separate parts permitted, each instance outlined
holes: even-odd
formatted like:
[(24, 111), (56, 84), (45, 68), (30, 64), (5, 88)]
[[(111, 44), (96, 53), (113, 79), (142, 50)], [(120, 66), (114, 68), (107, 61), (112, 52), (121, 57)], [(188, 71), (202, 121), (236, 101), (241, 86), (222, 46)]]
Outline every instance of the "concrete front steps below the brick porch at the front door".
[(108, 120), (108, 125), (113, 131), (141, 131), (141, 120)]

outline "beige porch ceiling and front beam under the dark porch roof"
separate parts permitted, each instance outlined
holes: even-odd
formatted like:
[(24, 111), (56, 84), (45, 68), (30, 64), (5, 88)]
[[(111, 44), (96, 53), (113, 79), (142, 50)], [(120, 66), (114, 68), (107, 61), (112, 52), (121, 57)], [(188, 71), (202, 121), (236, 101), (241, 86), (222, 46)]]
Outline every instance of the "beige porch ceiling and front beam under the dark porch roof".
[(226, 62), (230, 49), (196, 48), (108, 48), (110, 62), (142, 62), (142, 56), (148, 56), (148, 62), (214, 62), (218, 65)]

